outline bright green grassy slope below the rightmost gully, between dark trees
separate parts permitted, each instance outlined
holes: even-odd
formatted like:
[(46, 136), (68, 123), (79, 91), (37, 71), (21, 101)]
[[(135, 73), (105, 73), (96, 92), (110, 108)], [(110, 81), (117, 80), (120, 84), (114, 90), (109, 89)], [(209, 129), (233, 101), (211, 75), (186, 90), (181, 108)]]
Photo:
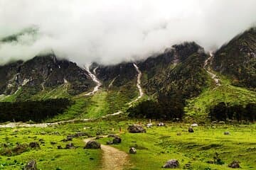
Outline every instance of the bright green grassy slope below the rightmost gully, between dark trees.
[(256, 103), (256, 92), (249, 89), (232, 86), (230, 79), (220, 76), (221, 86), (210, 86), (196, 98), (186, 101), (186, 120), (207, 121), (210, 107), (220, 102), (230, 105), (243, 105)]

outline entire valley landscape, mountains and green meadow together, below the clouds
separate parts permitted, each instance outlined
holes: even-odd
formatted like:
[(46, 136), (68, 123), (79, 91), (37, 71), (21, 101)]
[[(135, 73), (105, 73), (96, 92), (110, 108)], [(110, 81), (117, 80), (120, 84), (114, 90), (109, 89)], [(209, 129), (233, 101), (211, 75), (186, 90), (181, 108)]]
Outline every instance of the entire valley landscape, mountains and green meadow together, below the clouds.
[(255, 119), (256, 28), (212, 52), (183, 42), (115, 65), (52, 51), (0, 66), (0, 169), (256, 169)]

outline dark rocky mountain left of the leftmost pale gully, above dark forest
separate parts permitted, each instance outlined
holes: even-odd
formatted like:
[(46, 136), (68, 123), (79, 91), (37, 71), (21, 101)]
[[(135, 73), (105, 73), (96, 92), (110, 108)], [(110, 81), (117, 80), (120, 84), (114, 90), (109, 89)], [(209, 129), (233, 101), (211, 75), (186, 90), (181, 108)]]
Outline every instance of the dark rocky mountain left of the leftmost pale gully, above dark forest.
[(60, 94), (75, 95), (93, 86), (95, 82), (84, 69), (74, 62), (58, 60), (54, 54), (0, 66), (0, 94), (13, 95), (17, 100), (30, 99), (42, 91), (46, 94), (55, 89), (61, 89)]

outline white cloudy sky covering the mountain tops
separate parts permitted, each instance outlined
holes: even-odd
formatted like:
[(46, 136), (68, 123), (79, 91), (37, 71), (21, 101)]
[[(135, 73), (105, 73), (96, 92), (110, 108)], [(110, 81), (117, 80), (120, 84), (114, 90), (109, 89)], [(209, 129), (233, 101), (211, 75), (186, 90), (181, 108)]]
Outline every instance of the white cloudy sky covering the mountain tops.
[(79, 65), (141, 60), (195, 41), (218, 49), (256, 26), (255, 0), (0, 0), (0, 64), (53, 50)]

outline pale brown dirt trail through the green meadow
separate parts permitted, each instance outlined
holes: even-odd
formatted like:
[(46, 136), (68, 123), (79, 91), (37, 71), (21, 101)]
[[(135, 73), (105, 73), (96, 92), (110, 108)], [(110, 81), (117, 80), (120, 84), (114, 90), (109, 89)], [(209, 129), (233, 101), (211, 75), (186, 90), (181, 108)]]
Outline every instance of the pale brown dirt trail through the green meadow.
[[(90, 139), (84, 140), (88, 142)], [(109, 145), (100, 145), (102, 149), (102, 168), (104, 170), (122, 170), (130, 166), (129, 155), (119, 149), (110, 147)]]

